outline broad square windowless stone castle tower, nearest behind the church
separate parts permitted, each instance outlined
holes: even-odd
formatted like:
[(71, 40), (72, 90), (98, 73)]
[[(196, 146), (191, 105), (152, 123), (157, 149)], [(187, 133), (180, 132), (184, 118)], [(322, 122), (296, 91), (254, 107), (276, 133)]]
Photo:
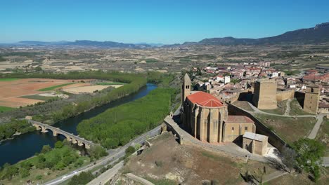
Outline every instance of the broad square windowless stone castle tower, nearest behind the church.
[(262, 79), (254, 82), (252, 102), (258, 109), (276, 109), (276, 81)]

